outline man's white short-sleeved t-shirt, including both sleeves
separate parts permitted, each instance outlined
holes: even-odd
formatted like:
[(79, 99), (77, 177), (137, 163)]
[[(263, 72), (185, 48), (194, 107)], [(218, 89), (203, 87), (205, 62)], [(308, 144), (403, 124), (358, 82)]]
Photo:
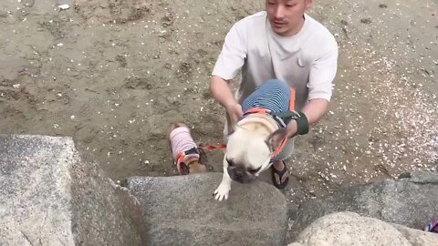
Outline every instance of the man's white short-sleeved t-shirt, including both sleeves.
[(296, 110), (301, 110), (310, 99), (330, 100), (337, 66), (338, 44), (325, 26), (305, 15), (297, 35), (278, 36), (262, 11), (230, 29), (213, 75), (229, 80), (242, 69), (239, 103), (266, 80), (285, 81), (295, 87)]

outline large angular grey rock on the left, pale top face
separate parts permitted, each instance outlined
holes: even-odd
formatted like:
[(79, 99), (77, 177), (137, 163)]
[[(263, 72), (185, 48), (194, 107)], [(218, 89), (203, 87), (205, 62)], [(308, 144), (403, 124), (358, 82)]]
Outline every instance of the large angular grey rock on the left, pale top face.
[(0, 245), (141, 245), (134, 199), (86, 159), (71, 138), (0, 135)]

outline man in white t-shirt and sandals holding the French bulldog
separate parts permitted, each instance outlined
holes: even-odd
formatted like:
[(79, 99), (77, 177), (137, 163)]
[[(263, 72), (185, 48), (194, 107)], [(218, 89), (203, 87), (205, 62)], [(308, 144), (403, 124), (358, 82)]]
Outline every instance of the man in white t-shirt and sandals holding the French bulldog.
[[(224, 40), (214, 66), (212, 95), (227, 113), (227, 128), (242, 117), (241, 104), (256, 87), (270, 79), (296, 90), (296, 110), (314, 124), (328, 111), (336, 76), (338, 45), (328, 29), (308, 16), (312, 0), (266, 0), (266, 11), (235, 23)], [(228, 83), (242, 70), (242, 81), (233, 95)], [(229, 134), (225, 128), (224, 133)], [(297, 121), (287, 124), (287, 137), (297, 134)], [(285, 162), (294, 147), (287, 141), (282, 159), (272, 165), (277, 188), (287, 185)]]

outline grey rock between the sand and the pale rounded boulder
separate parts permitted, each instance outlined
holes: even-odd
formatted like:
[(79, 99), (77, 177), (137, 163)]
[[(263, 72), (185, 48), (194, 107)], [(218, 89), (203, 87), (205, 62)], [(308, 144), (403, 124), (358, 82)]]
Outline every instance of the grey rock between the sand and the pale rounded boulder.
[(293, 241), (312, 221), (337, 211), (353, 211), (362, 216), (422, 229), (438, 216), (436, 175), (412, 172), (404, 177), (408, 178), (345, 188), (328, 198), (303, 204), (297, 211), (288, 239)]

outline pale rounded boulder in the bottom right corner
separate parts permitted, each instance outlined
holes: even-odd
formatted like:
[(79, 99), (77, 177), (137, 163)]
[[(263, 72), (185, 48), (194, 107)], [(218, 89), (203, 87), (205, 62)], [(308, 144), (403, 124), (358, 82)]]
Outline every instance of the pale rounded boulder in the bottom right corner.
[(437, 234), (362, 217), (353, 212), (339, 212), (315, 220), (289, 246), (420, 246), (434, 245), (436, 241)]

